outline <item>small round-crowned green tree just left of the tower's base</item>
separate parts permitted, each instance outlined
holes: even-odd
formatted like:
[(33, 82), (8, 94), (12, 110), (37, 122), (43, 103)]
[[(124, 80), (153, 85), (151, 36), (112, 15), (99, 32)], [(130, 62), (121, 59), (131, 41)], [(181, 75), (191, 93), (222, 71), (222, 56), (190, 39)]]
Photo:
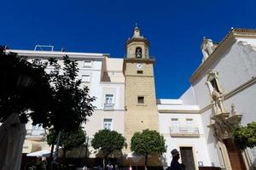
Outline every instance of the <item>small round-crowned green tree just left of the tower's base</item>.
[(95, 133), (91, 140), (91, 145), (95, 150), (99, 149), (103, 154), (103, 169), (108, 156), (115, 150), (121, 151), (125, 146), (125, 138), (122, 134), (108, 129), (100, 130)]

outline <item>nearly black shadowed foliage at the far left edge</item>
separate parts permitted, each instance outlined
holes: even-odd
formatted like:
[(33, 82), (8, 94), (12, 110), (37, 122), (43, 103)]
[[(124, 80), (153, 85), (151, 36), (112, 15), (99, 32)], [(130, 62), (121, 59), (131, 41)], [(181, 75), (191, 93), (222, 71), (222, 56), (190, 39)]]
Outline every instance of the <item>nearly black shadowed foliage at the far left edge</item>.
[(44, 122), (52, 92), (44, 68), (28, 62), (26, 57), (5, 53), (0, 47), (0, 122), (14, 112), (21, 122), (27, 122), (28, 117), (33, 124)]

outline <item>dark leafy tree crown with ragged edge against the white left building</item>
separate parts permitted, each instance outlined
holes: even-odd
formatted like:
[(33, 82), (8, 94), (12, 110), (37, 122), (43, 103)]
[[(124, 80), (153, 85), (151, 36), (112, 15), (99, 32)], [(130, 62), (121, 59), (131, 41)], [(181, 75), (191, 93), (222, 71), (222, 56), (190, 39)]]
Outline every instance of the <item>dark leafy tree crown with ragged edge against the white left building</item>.
[(49, 59), (49, 65), (54, 66), (49, 73), (53, 101), (45, 126), (53, 127), (57, 132), (78, 129), (95, 108), (92, 105), (95, 97), (90, 97), (89, 88), (82, 87), (78, 79), (78, 63), (68, 56), (63, 57), (63, 63), (61, 68), (56, 59)]

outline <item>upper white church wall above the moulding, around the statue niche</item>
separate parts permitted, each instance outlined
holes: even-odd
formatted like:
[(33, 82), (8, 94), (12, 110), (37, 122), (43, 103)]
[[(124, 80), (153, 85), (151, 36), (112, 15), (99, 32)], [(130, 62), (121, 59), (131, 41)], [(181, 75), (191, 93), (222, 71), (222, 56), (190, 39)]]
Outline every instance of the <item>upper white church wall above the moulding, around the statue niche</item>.
[(248, 49), (239, 40), (228, 48), (219, 59), (208, 67), (198, 80), (192, 83), (200, 108), (210, 104), (207, 85), (207, 71), (218, 71), (218, 82), (224, 94), (228, 94), (242, 83), (256, 76), (256, 52)]

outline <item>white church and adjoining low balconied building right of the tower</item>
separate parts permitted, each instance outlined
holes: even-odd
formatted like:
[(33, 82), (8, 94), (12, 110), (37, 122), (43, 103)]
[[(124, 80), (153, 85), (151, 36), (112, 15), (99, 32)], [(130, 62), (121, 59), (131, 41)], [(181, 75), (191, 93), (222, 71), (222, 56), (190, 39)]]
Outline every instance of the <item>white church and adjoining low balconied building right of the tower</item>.
[[(168, 145), (168, 163), (170, 150), (177, 148), (180, 161), (189, 169), (256, 168), (255, 149), (241, 152), (232, 142), (232, 132), (240, 122), (256, 121), (255, 36), (255, 30), (231, 29), (219, 43), (204, 38), (202, 63), (190, 78), (191, 87), (178, 100), (160, 99), (160, 133)], [(196, 138), (191, 138), (195, 132), (191, 127), (198, 128)], [(174, 129), (183, 134), (173, 135)], [(188, 156), (194, 163), (183, 158)]]

